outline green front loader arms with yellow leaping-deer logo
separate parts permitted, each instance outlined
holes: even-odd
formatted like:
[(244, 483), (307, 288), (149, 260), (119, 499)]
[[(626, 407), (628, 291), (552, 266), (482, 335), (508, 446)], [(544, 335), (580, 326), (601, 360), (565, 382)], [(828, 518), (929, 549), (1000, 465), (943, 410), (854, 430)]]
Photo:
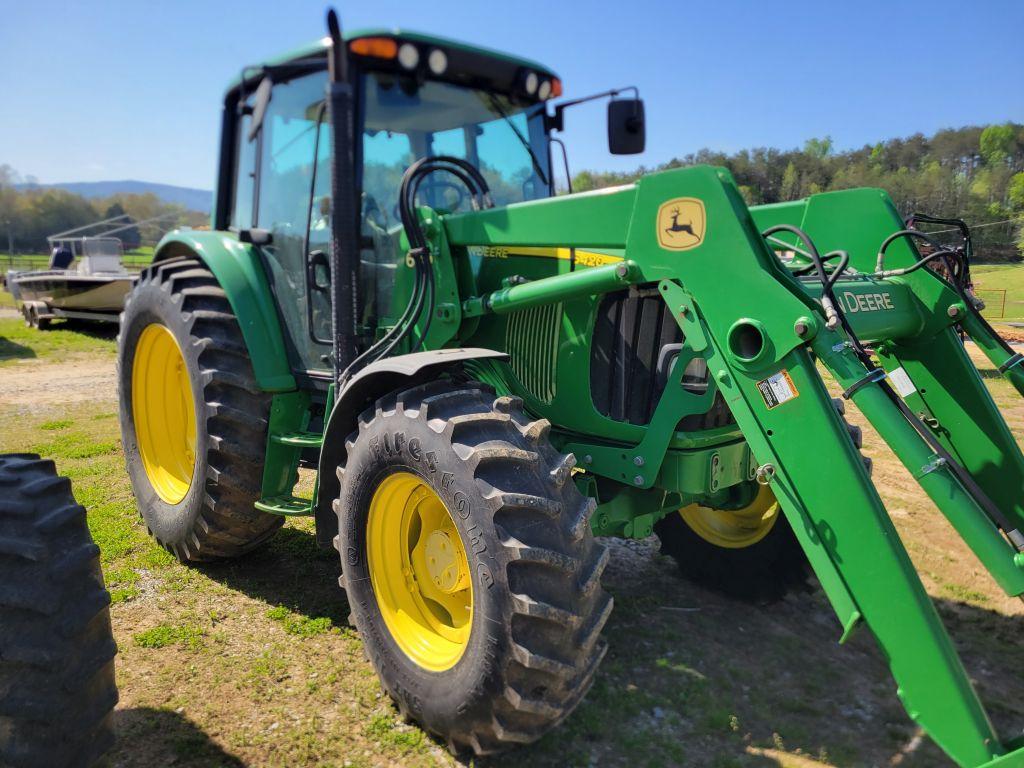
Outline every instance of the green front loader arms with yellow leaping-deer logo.
[[(837, 287), (854, 295), (854, 306), (859, 305), (856, 295), (889, 295), (892, 309), (859, 317), (848, 312), (852, 329), (877, 345), (888, 371), (902, 367), (914, 382), (922, 401), (908, 395), (907, 404), (937, 423), (932, 428), (938, 439), (966, 475), (937, 460), (880, 372), (869, 371), (855, 352), (856, 339), (842, 328), (826, 327), (813, 285), (782, 266), (760, 233), (769, 223), (803, 223), (812, 237), (828, 241), (819, 243), (822, 253), (844, 248), (852, 266), (869, 272), (866, 262), (873, 260), (879, 243), (902, 222), (884, 193), (849, 195), (843, 226), (827, 210), (835, 201), (819, 201), (827, 196), (812, 198), (806, 210), (776, 207), (752, 216), (727, 171), (697, 167), (599, 194), (445, 217), (443, 234), (445, 245), (456, 250), (622, 249), (617, 271), (594, 267), (604, 272), (592, 276), (592, 289), (613, 290), (616, 274), (620, 285), (658, 287), (685, 334), (684, 344), (707, 359), (757, 459), (759, 478), (780, 501), (839, 614), (844, 637), (859, 623), (873, 632), (908, 714), (957, 764), (1024, 765), (1024, 751), (994, 732), (815, 362), (846, 390), (1000, 586), (1009, 594), (1024, 593), (1019, 553), (1005, 538), (1006, 528), (1021, 520), (1024, 458), (958, 346), (956, 318), (947, 313), (957, 297), (925, 270), (901, 280), (861, 276)], [(681, 230), (670, 218), (673, 207), (676, 218), (679, 209), (699, 210), (702, 229), (692, 226), (691, 217), (693, 237), (673, 240)], [(914, 259), (912, 248), (902, 244), (892, 254), (893, 264)], [(540, 295), (559, 301), (579, 290), (581, 279), (573, 274), (579, 272), (527, 284), (528, 292), (505, 289), (471, 297), (463, 309), (513, 311), (519, 297), (536, 305)], [(970, 324), (967, 328), (972, 331)], [(979, 343), (991, 346), (999, 358), (996, 340), (983, 337)], [(1010, 372), (1020, 376), (1017, 369)], [(648, 439), (671, 432), (678, 421), (678, 414), (665, 410), (659, 404)], [(645, 467), (647, 477), (656, 471)], [(1002, 532), (992, 521), (993, 507), (1001, 515)]]

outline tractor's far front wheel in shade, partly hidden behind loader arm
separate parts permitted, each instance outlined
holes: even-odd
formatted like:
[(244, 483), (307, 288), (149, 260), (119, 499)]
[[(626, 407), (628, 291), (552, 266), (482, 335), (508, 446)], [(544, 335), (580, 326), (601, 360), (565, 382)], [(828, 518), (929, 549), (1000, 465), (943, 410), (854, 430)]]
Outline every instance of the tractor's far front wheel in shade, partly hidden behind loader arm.
[[(833, 407), (860, 451), (860, 427), (846, 420), (846, 403)], [(871, 460), (861, 457), (870, 473)], [(771, 602), (794, 589), (806, 589), (811, 566), (774, 495), (759, 488), (741, 509), (720, 510), (693, 504), (654, 524), (662, 553), (671, 556), (687, 579), (741, 600)]]

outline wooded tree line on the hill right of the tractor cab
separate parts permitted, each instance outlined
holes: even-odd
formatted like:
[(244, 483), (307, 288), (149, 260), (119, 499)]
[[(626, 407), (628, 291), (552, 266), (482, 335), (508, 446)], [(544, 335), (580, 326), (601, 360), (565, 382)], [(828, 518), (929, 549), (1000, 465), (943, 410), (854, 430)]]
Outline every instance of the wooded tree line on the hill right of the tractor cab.
[(1024, 125), (1018, 123), (915, 133), (847, 152), (836, 152), (828, 137), (812, 138), (800, 150), (700, 150), (654, 168), (583, 171), (573, 176), (572, 188), (624, 184), (653, 171), (705, 163), (728, 168), (748, 205), (877, 186), (889, 191), (904, 215), (967, 221), (979, 260), (1024, 257)]

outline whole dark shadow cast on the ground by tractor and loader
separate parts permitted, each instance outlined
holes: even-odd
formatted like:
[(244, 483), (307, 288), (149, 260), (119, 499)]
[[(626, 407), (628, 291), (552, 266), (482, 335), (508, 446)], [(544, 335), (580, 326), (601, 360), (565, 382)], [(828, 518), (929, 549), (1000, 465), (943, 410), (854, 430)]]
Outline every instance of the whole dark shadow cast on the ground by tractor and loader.
[[(537, 743), (464, 765), (950, 765), (907, 717), (870, 634), (838, 644), (839, 623), (820, 590), (744, 603), (680, 579), (652, 541), (607, 543), (604, 585), (615, 608), (587, 697)], [(311, 531), (292, 525), (251, 555), (203, 567), (250, 597), (344, 627), (340, 570), (334, 550), (317, 549)], [(1024, 620), (951, 600), (937, 605), (997, 729), (1020, 732)]]

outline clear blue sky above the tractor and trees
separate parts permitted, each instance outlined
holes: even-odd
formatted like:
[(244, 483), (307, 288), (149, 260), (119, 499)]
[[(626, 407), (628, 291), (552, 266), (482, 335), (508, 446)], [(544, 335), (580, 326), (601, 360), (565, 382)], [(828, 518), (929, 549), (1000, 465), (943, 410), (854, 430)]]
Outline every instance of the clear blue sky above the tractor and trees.
[[(243, 65), (319, 37), (323, 0), (0, 0), (0, 163), (43, 182), (209, 188), (219, 101)], [(603, 106), (566, 115), (573, 171), (701, 146), (840, 148), (1024, 122), (1024, 2), (338, 3), (547, 63), (567, 96), (638, 85), (647, 152), (607, 155)]]

